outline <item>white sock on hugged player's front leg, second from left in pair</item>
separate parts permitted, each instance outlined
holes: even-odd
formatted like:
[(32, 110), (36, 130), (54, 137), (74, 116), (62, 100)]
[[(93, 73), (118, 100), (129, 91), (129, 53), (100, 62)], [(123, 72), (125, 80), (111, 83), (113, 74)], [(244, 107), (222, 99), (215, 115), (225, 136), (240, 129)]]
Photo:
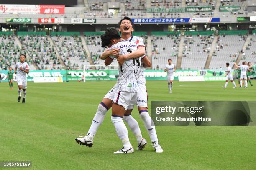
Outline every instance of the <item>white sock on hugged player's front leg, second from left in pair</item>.
[(130, 148), (131, 143), (128, 138), (128, 131), (122, 117), (111, 116), (111, 122), (115, 126), (115, 132), (118, 135), (118, 138), (122, 140), (123, 146), (125, 148)]

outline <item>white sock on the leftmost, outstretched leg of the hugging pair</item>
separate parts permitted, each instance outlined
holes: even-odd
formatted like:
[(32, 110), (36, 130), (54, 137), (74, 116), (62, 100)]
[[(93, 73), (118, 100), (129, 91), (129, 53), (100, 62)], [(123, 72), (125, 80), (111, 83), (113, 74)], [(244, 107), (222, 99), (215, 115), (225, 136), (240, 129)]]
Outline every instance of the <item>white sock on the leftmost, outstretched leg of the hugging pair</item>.
[(91, 127), (90, 127), (90, 129), (88, 130), (88, 133), (87, 133), (87, 137), (90, 138), (90, 140), (93, 140), (94, 136), (97, 133), (98, 128), (102, 124), (102, 122), (105, 118), (106, 112), (108, 112), (107, 108), (108, 107), (103, 102), (101, 102), (98, 105), (98, 110), (97, 110), (95, 116), (92, 119)]

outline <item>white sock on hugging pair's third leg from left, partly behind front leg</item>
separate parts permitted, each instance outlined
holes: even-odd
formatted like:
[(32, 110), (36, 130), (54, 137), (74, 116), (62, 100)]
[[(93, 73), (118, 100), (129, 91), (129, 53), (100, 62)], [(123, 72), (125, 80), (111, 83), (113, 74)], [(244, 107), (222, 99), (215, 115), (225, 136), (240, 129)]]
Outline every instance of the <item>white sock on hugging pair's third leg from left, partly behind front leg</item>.
[(142, 135), (141, 135), (141, 130), (137, 120), (135, 120), (131, 115), (123, 116), (123, 120), (128, 124), (129, 128), (131, 129), (133, 134), (136, 136), (137, 141), (140, 142), (142, 139)]

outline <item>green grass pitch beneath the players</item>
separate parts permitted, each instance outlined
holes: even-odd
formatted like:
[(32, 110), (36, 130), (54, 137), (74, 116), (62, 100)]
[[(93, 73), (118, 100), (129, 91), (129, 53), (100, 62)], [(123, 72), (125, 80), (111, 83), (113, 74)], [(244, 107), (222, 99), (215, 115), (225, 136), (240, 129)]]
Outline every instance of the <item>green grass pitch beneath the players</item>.
[[(237, 82), (237, 81), (236, 81)], [(256, 81), (252, 81), (256, 85)], [(256, 86), (227, 89), (225, 82), (174, 82), (168, 93), (166, 81), (147, 81), (151, 100), (256, 100)], [(148, 145), (143, 151), (114, 155), (122, 143), (110, 121), (111, 110), (95, 136), (92, 148), (74, 138), (85, 135), (97, 105), (115, 84), (105, 82), (28, 83), (26, 104), (18, 92), (0, 84), (0, 161), (32, 161), (28, 170), (181, 169), (255, 170), (256, 127), (157, 126), (164, 153), (155, 153), (138, 110), (138, 120)], [(128, 129), (131, 144), (136, 138)], [(11, 168), (10, 168), (11, 169)], [(16, 168), (17, 169), (17, 168)], [(23, 168), (26, 169), (26, 168)]]

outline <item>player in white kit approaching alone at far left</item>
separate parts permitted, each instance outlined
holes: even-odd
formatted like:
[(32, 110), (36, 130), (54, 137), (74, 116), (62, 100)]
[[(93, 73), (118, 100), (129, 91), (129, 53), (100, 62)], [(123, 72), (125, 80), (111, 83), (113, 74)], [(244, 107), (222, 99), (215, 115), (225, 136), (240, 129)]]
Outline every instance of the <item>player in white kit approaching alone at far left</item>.
[[(25, 62), (26, 55), (20, 55), (20, 62), (15, 64), (15, 74), (17, 74), (17, 84), (18, 84), (18, 102), (21, 99), (21, 92), (23, 90), (23, 99), (22, 103), (25, 103), (25, 98), (27, 94), (27, 74), (29, 73), (29, 66), (28, 63)], [(21, 90), (22, 89), (22, 90)]]

